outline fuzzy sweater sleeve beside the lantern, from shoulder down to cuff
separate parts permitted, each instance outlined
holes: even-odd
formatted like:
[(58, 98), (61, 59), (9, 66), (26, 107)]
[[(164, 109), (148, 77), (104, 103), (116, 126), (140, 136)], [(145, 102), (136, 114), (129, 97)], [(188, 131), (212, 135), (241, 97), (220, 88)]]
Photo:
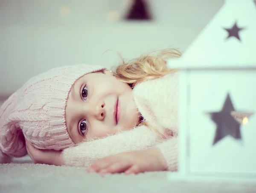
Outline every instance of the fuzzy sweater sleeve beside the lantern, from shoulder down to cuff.
[(134, 88), (134, 100), (145, 121), (166, 139), (157, 144), (170, 171), (178, 163), (178, 75), (142, 82)]

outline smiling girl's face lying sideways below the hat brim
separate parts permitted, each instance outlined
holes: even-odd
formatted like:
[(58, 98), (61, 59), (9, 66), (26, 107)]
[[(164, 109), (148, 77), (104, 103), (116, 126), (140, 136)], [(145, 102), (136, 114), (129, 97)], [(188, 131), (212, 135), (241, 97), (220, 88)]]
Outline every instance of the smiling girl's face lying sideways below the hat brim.
[(102, 138), (136, 126), (140, 120), (131, 87), (110, 71), (86, 74), (71, 89), (67, 131), (74, 143)]

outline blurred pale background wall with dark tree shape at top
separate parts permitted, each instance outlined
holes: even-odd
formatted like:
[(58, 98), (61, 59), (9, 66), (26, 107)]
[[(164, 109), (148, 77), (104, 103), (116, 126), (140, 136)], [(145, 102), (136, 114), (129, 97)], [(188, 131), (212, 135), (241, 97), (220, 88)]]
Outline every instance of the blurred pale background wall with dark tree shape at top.
[(0, 105), (29, 78), (186, 48), (224, 0), (0, 0)]

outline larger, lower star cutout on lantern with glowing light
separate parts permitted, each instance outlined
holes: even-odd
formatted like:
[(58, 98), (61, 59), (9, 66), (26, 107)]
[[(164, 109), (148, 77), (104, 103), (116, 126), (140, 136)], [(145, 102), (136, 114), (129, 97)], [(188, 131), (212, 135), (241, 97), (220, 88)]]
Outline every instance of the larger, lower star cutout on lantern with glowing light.
[(235, 111), (230, 94), (227, 94), (222, 110), (209, 114), (212, 121), (217, 125), (213, 141), (213, 145), (215, 145), (226, 136), (232, 136), (234, 139), (241, 140), (240, 126), (241, 124), (246, 124), (249, 116), (253, 113)]

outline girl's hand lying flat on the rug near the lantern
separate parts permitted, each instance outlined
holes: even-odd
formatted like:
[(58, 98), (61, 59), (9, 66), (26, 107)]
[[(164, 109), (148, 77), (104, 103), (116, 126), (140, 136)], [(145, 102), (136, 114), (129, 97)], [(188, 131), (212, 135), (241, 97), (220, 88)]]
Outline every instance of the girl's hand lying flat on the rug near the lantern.
[(166, 161), (157, 148), (119, 153), (100, 159), (87, 169), (97, 173), (141, 173), (166, 170)]

